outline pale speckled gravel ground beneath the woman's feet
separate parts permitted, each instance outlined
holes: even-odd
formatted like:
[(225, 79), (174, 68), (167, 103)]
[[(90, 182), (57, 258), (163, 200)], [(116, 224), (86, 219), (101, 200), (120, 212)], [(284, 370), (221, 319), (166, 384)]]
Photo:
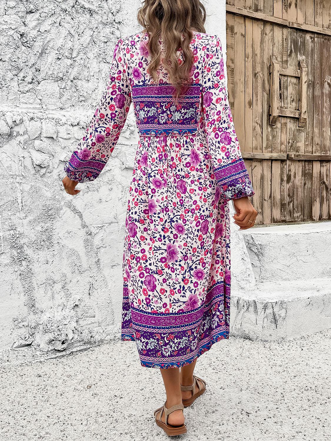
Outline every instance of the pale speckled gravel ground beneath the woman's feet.
[[(190, 440), (331, 439), (331, 329), (282, 342), (230, 338), (198, 359), (207, 391), (185, 409)], [(1, 441), (169, 440), (153, 411), (165, 392), (134, 342), (42, 362), (4, 363)], [(180, 437), (173, 437), (178, 439)]]

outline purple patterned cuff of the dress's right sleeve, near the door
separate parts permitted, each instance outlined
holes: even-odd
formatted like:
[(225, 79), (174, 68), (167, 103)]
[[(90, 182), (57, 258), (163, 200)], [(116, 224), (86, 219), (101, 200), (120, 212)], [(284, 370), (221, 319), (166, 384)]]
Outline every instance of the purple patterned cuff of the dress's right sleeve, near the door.
[(229, 164), (221, 165), (214, 172), (216, 182), (223, 196), (228, 201), (243, 198), (244, 196), (251, 197), (255, 194), (242, 158)]

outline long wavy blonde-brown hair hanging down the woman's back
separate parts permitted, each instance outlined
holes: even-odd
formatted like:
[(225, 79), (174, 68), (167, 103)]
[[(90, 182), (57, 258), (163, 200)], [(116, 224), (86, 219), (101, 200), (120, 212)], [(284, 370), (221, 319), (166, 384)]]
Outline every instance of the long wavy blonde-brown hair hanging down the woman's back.
[[(138, 11), (138, 21), (149, 35), (150, 76), (158, 83), (157, 71), (162, 62), (169, 82), (176, 87), (176, 100), (182, 87), (191, 80), (193, 31), (206, 32), (205, 20), (206, 10), (199, 0), (144, 0)], [(162, 60), (159, 40), (164, 45)], [(178, 60), (179, 49), (183, 53), (182, 62)]]

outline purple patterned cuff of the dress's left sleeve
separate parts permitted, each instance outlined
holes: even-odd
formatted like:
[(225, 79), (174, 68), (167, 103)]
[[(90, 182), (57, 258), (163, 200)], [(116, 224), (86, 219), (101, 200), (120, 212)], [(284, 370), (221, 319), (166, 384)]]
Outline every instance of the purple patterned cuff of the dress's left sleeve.
[(105, 167), (107, 161), (102, 161), (100, 158), (84, 159), (78, 156), (78, 151), (72, 153), (71, 158), (64, 165), (64, 172), (72, 181), (80, 183), (94, 181), (102, 169)]

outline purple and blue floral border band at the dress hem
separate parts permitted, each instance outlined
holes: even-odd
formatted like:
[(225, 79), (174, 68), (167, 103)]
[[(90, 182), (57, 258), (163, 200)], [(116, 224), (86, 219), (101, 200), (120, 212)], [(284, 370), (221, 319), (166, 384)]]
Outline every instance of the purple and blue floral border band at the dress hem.
[[(194, 310), (182, 310), (180, 314), (178, 311), (173, 314), (152, 313), (130, 306), (128, 287), (124, 286), (121, 340), (136, 342), (143, 367), (167, 369), (188, 365), (214, 343), (229, 338), (229, 303), (230, 285), (221, 282), (208, 290), (205, 303)], [(225, 309), (228, 310), (226, 317)], [(223, 319), (219, 319), (220, 313), (223, 313)], [(207, 317), (211, 320), (201, 330)], [(214, 329), (213, 319), (217, 323)], [(168, 343), (171, 345), (175, 332), (184, 341), (181, 350), (172, 356), (163, 354), (162, 357), (162, 347), (167, 347)], [(150, 345), (151, 341), (155, 342), (154, 346)]]

